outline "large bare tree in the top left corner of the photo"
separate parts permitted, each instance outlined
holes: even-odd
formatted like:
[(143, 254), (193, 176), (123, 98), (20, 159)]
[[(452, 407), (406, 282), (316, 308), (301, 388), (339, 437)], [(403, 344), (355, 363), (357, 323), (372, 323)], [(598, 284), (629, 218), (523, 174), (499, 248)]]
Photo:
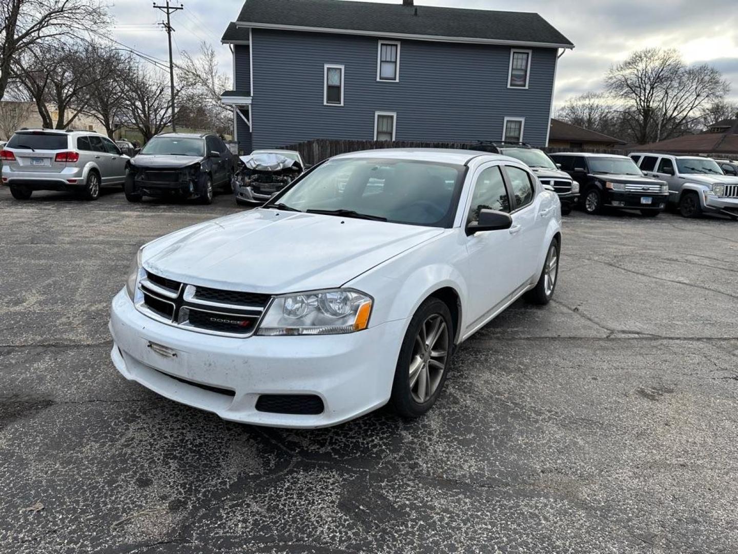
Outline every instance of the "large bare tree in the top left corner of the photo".
[(1, 0), (0, 98), (14, 62), (28, 49), (62, 38), (100, 32), (108, 24), (99, 0)]

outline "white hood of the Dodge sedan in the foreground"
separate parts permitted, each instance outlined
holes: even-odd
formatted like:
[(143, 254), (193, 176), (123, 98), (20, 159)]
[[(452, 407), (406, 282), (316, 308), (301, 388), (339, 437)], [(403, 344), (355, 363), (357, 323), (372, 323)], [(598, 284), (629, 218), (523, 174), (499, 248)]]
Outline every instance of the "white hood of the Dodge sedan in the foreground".
[(147, 270), (189, 284), (250, 293), (340, 287), (444, 233), (315, 213), (257, 209), (179, 230), (147, 244)]

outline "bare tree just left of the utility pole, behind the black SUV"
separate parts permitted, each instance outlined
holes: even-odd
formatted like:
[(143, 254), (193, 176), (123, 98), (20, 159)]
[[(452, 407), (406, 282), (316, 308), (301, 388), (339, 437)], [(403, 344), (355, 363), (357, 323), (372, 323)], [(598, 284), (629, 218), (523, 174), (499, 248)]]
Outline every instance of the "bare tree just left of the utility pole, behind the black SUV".
[[(175, 101), (182, 88), (175, 89)], [(169, 78), (139, 65), (125, 78), (125, 109), (146, 142), (172, 123)]]

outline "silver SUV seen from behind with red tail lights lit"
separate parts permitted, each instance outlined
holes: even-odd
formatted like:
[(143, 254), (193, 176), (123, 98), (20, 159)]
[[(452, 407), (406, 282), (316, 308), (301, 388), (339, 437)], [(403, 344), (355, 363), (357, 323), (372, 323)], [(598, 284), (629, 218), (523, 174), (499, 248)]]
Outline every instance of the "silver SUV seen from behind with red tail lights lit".
[(33, 191), (71, 191), (96, 200), (100, 187), (123, 185), (130, 158), (103, 134), (24, 129), (0, 151), (2, 183), (18, 200)]

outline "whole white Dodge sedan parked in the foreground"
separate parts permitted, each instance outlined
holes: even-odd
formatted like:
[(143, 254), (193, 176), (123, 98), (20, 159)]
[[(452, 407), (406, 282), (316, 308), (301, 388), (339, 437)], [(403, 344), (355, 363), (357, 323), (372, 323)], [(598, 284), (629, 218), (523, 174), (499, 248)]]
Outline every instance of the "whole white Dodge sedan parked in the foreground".
[(517, 160), (375, 150), (145, 244), (114, 298), (123, 377), (225, 420), (315, 428), (438, 399), (455, 348), (547, 304), (561, 208)]

